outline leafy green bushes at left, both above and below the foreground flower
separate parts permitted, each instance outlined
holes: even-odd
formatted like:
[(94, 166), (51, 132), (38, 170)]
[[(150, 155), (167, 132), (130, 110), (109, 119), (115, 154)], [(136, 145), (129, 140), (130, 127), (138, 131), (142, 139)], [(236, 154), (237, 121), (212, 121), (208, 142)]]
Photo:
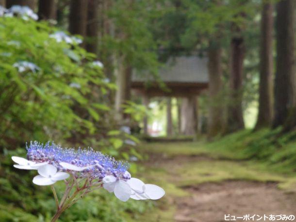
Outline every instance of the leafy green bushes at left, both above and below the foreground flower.
[[(54, 140), (92, 146), (119, 159), (142, 158), (133, 148), (138, 139), (115, 123), (104, 98), (116, 89), (115, 84), (106, 81), (102, 67), (94, 63), (94, 54), (75, 42), (68, 44), (50, 36), (57, 31), (48, 22), (0, 17), (1, 221), (41, 222), (54, 214), (52, 193), (46, 187), (33, 186), (34, 172), (19, 176), (11, 168), (11, 156), (26, 156), (25, 142)], [(36, 67), (15, 67), (23, 62)], [(141, 119), (143, 108), (136, 104), (127, 104), (125, 110), (135, 112), (136, 121)], [(136, 172), (135, 164), (131, 163), (130, 171)], [(62, 196), (63, 187), (57, 186)], [(125, 221), (127, 212), (142, 213), (151, 206), (121, 203), (101, 191), (81, 202), (61, 220)]]

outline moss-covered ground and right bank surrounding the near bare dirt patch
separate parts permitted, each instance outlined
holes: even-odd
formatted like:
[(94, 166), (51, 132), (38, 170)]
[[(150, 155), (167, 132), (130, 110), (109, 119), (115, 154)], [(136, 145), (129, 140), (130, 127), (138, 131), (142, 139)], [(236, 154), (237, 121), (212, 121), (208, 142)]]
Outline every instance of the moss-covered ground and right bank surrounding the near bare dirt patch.
[[(275, 136), (276, 135), (276, 136)], [(143, 143), (139, 175), (166, 190), (165, 197), (142, 221), (174, 221), (178, 198), (189, 187), (223, 181), (274, 182), (283, 192), (296, 191), (294, 135), (277, 131), (241, 131), (208, 143)]]

